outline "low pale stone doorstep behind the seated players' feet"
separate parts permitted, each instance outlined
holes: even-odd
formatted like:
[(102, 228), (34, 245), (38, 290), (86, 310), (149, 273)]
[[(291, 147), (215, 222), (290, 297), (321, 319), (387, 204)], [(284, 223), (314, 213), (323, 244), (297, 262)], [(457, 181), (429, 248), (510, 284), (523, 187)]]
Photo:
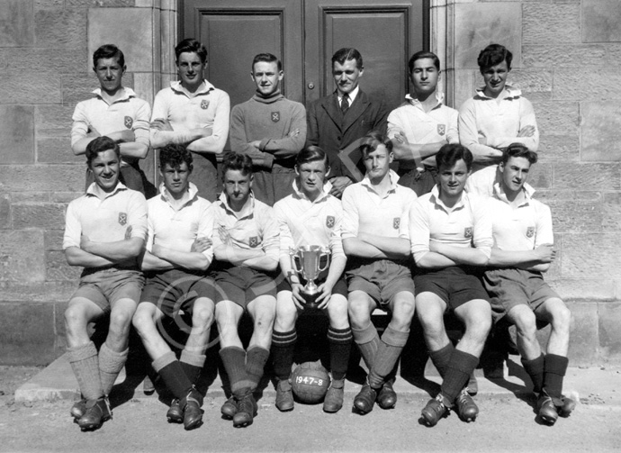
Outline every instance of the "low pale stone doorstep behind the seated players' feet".
[[(518, 392), (520, 388), (527, 392), (524, 385), (524, 381), (518, 376), (509, 376), (509, 367), (517, 369), (520, 367), (519, 358), (516, 356), (509, 357), (509, 361), (504, 366), (504, 381), (496, 384), (495, 382), (485, 378), (482, 370), (476, 370), (476, 376), (479, 384), (479, 394), (491, 395), (491, 396), (513, 396), (513, 392), (510, 388), (516, 389)], [(508, 367), (509, 365), (509, 367)], [(514, 367), (515, 366), (515, 367)], [(521, 369), (521, 367), (519, 368)], [(428, 364), (426, 368), (426, 376), (428, 379), (439, 383), (439, 377), (436, 370)], [(572, 394), (574, 396), (578, 394), (589, 395), (598, 394), (602, 401), (614, 403), (621, 406), (621, 392), (617, 392), (617, 383), (621, 378), (621, 371), (615, 368), (601, 369), (597, 367), (593, 368), (578, 368), (570, 367), (565, 377), (564, 390), (565, 394)], [(117, 379), (117, 385), (125, 380), (125, 370), (121, 371), (119, 378)], [(502, 384), (502, 386), (500, 385)], [(419, 395), (420, 397), (428, 397), (428, 392), (418, 386), (411, 385), (401, 376), (394, 385), (395, 391), (398, 394), (410, 394)], [(360, 385), (348, 382), (346, 385), (346, 392), (353, 396), (360, 390)], [(210, 386), (207, 396), (219, 397), (223, 396), (222, 383), (220, 377), (216, 377), (215, 381)], [(272, 385), (267, 385), (264, 390), (264, 395), (274, 398), (275, 390)], [(157, 394), (147, 396), (142, 393), (142, 385), (136, 387), (134, 398), (153, 398), (157, 397)], [(34, 402), (34, 401), (54, 401), (58, 399), (63, 400), (77, 400), (79, 398), (79, 390), (76, 382), (76, 378), (71, 370), (71, 366), (67, 361), (67, 356), (63, 355), (57, 358), (54, 362), (49, 364), (48, 367), (43, 369), (38, 375), (33, 376), (30, 381), (19, 387), (15, 391), (16, 402)]]

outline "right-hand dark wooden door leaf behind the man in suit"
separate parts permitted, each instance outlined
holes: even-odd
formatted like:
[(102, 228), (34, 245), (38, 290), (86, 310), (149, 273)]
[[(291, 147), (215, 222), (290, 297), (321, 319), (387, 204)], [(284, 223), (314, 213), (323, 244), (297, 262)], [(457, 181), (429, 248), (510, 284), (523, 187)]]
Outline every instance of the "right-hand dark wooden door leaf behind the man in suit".
[[(395, 2), (307, 0), (306, 100), (318, 99), (336, 89), (331, 58), (343, 47), (354, 47), (363, 56), (365, 73), (360, 86), (397, 106), (409, 92), (407, 62), (424, 48), (423, 0)], [(309, 84), (319, 89), (309, 89)]]

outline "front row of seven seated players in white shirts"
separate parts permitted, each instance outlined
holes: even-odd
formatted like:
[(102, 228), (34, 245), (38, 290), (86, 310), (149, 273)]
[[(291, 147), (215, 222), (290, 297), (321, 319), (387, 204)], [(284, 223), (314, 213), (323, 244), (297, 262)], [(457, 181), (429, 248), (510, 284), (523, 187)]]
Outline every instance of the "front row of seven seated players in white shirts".
[[(85, 154), (94, 183), (69, 204), (63, 244), (68, 263), (84, 267), (66, 312), (68, 358), (83, 395), (71, 413), (80, 428), (97, 429), (112, 417), (108, 394), (127, 358), (132, 320), (174, 395), (169, 421), (184, 423), (186, 430), (202, 424), (195, 383), (214, 319), (232, 394), (222, 414), (236, 427), (253, 422), (253, 393), (270, 351), (276, 407), (291, 411), (289, 376), (305, 282), (293, 271), (289, 252), (309, 245), (329, 248), (332, 256), (318, 279), (320, 309), (329, 316), (325, 412), (343, 405), (352, 340), (369, 370), (354, 409), (365, 414), (375, 402), (383, 409), (395, 405), (395, 368), (414, 313), (442, 377), (440, 393), (421, 412), (428, 426), (449, 409), (464, 421), (477, 417), (466, 385), (492, 316), (516, 324), (541, 419), (554, 424), (559, 414), (572, 412), (575, 403), (562, 394), (571, 313), (542, 278), (554, 260), (552, 217), (527, 185), (536, 153), (511, 145), (495, 173), (469, 181), (472, 153), (447, 144), (437, 154), (439, 184), (417, 198), (397, 184), (392, 146), (378, 133), (365, 137), (366, 176), (346, 188), (342, 203), (329, 195), (325, 152), (303, 149), (293, 195), (271, 208), (252, 194), (252, 161), (245, 155), (225, 157), (224, 191), (210, 204), (190, 182), (191, 153), (168, 145), (160, 153), (159, 195), (147, 203), (119, 182), (118, 145), (107, 137), (92, 140)], [(492, 196), (477, 195), (477, 187), (490, 191), (484, 184), (490, 180)], [(464, 190), (467, 182), (470, 192)], [(381, 337), (371, 322), (375, 308), (392, 314)], [(192, 313), (192, 329), (177, 359), (158, 326), (180, 310)], [(238, 322), (246, 311), (254, 331), (244, 349)], [(87, 324), (104, 313), (110, 313), (110, 328), (97, 351)], [(446, 336), (446, 313), (464, 323), (456, 347)], [(536, 340), (537, 321), (552, 324), (546, 354)]]

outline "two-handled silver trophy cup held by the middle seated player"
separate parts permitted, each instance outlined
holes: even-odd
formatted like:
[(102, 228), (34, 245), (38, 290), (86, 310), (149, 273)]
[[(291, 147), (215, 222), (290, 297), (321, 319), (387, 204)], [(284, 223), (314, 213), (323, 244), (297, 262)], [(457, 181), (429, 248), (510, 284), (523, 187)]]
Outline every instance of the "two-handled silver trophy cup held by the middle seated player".
[[(302, 297), (306, 301), (306, 306), (317, 308), (319, 305), (317, 297), (320, 292), (315, 279), (329, 267), (330, 250), (319, 245), (305, 245), (298, 249), (290, 249), (289, 255), (293, 270), (306, 280), (306, 285), (302, 288)], [(325, 258), (324, 263), (321, 262), (322, 258)]]

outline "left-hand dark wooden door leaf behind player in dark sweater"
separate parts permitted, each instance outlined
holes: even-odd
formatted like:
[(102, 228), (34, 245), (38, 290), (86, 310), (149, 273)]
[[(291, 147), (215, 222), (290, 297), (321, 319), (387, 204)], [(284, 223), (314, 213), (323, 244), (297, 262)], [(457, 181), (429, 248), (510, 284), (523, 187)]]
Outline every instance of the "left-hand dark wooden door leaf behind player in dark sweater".
[(252, 59), (269, 52), (283, 61), (284, 95), (302, 101), (300, 0), (186, 0), (184, 38), (207, 47), (207, 79), (230, 96), (231, 106), (255, 93)]

